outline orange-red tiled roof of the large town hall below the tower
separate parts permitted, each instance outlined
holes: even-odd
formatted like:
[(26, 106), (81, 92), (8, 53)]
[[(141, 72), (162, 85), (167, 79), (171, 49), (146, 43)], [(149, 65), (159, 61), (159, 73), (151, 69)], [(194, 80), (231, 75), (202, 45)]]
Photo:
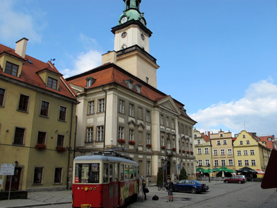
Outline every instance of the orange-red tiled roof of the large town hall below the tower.
[[(87, 78), (92, 77), (95, 79), (95, 82), (91, 87), (86, 87), (87, 85)], [(127, 84), (125, 83), (125, 80), (133, 80), (132, 85), (140, 85), (141, 86), (141, 93), (137, 92), (136, 89), (129, 89)], [(143, 80), (137, 78), (136, 76), (133, 76), (131, 73), (125, 71), (124, 69), (118, 67), (116, 64), (113, 63), (107, 63), (103, 64), (100, 67), (96, 67), (95, 69), (91, 69), (87, 72), (80, 73), (76, 76), (72, 76), (70, 78), (66, 78), (66, 80), (75, 86), (82, 87), (84, 89), (91, 89), (95, 87), (101, 87), (102, 85), (109, 85), (112, 83), (116, 83), (117, 85), (120, 85), (122, 87), (125, 87), (126, 89), (131, 90), (132, 92), (137, 93), (140, 96), (144, 96), (145, 98), (150, 99), (154, 103), (159, 103), (159, 101), (162, 101), (165, 98), (168, 98), (167, 94), (164, 94), (163, 92), (159, 91), (158, 89), (152, 87), (151, 85), (148, 85), (148, 83), (145, 83)], [(180, 103), (179, 101), (176, 101), (175, 99), (170, 99), (175, 103), (176, 109), (180, 110), (181, 108), (181, 115), (185, 116), (186, 118), (193, 121), (193, 119), (186, 114), (186, 110), (184, 110), (184, 104)], [(196, 123), (196, 121), (194, 121)]]

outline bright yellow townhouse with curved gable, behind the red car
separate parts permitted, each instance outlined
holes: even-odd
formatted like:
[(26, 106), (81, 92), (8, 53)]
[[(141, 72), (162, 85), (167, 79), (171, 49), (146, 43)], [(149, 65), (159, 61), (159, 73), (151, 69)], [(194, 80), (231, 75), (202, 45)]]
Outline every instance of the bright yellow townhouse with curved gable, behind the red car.
[(267, 148), (265, 141), (256, 137), (256, 133), (242, 130), (233, 141), (233, 150), (236, 170), (246, 166), (265, 171), (271, 150)]

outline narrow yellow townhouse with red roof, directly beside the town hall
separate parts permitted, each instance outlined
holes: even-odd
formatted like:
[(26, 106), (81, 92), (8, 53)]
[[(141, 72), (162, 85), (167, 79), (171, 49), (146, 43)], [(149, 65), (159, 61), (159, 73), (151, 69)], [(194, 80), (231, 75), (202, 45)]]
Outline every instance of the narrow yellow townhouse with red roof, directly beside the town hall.
[(210, 132), (206, 135), (195, 129), (194, 140), (196, 166), (204, 169), (213, 168)]

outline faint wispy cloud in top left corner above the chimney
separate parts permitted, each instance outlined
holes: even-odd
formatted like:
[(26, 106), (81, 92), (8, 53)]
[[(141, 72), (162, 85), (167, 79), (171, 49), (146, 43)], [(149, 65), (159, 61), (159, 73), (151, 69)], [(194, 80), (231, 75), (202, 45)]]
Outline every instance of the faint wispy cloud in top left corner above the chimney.
[(43, 24), (37, 24), (37, 18), (22, 12), (23, 9), (15, 9), (16, 4), (17, 1), (0, 0), (0, 39), (14, 41), (26, 37), (33, 42), (41, 42), (39, 31)]

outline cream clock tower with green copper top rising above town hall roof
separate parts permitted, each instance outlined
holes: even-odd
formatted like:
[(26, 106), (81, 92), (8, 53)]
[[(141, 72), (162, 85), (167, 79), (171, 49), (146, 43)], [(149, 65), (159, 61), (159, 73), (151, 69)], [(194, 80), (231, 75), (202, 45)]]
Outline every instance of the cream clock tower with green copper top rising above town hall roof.
[[(114, 51), (102, 57), (102, 64), (114, 62), (134, 76), (157, 88), (156, 59), (150, 55), (149, 38), (144, 13), (140, 11), (141, 0), (123, 0), (125, 8), (118, 25), (111, 28), (114, 33)], [(113, 53), (111, 55), (110, 53)]]

